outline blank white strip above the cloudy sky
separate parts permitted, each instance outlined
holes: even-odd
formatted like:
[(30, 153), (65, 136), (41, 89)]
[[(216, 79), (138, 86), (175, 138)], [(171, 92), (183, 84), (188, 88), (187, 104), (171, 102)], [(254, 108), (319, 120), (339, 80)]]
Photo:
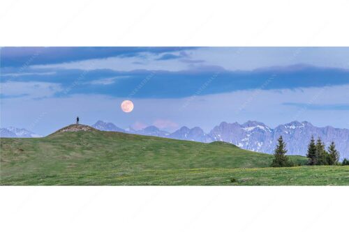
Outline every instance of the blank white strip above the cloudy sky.
[(1, 46), (346, 46), (349, 1), (2, 0)]

